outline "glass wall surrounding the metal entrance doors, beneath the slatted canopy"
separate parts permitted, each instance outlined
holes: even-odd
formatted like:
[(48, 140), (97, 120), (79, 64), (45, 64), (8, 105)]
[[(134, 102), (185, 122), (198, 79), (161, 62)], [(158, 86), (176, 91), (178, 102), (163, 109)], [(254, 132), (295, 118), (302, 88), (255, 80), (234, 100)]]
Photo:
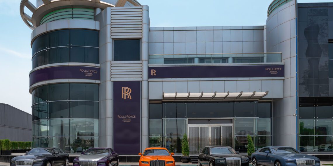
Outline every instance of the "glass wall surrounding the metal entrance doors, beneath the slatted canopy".
[(181, 153), (187, 118), (233, 119), (234, 148), (240, 152), (247, 151), (247, 134), (256, 148), (271, 145), (271, 102), (151, 103), (149, 112), (150, 147)]

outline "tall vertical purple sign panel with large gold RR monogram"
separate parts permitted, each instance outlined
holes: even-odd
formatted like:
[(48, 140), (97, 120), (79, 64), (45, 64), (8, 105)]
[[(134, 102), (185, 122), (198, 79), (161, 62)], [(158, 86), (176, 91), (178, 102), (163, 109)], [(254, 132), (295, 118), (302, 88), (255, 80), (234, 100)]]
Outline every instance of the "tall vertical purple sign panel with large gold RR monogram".
[(140, 81), (113, 82), (113, 148), (120, 155), (140, 153), (140, 101)]

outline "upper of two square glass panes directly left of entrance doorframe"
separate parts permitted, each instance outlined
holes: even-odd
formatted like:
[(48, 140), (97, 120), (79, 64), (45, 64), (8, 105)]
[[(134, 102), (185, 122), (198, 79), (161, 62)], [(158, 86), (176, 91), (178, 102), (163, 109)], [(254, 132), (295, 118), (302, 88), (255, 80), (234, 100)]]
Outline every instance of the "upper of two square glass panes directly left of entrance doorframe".
[(163, 119), (163, 135), (183, 135), (186, 128), (186, 119)]

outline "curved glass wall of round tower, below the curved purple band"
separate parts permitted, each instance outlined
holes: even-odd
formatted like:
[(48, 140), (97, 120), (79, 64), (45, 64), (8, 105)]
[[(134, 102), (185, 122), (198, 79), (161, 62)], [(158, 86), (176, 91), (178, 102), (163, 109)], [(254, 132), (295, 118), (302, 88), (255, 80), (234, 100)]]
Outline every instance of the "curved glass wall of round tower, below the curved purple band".
[(81, 153), (98, 147), (98, 84), (62, 83), (32, 91), (33, 147)]

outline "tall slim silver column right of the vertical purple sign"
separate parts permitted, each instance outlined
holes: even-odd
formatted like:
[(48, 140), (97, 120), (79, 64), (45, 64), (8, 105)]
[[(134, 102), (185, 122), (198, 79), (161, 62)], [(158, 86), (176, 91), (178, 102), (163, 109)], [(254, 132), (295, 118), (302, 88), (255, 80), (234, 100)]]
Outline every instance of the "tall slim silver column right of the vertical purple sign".
[(149, 85), (148, 85), (148, 62), (149, 62), (149, 7), (142, 6), (142, 83), (141, 83), (141, 151), (149, 146)]

